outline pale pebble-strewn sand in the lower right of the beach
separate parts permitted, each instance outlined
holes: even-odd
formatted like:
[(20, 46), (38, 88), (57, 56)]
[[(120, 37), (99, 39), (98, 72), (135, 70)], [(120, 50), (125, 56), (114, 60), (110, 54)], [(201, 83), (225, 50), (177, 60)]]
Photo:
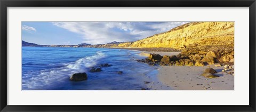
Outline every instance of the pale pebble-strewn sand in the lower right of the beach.
[[(220, 77), (205, 78), (203, 71), (210, 66)], [(234, 90), (234, 76), (222, 72), (223, 67), (163, 66), (159, 68), (158, 79), (174, 90)]]

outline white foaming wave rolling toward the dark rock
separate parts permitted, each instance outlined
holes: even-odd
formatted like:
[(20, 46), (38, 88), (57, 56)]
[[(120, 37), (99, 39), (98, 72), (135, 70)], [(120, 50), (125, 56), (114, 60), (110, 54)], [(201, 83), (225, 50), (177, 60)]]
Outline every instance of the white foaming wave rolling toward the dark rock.
[(86, 72), (86, 68), (96, 65), (97, 61), (103, 57), (106, 57), (105, 53), (97, 52), (95, 55), (78, 59), (75, 62), (63, 63), (64, 67), (23, 74), (22, 90), (46, 90), (45, 87), (66, 81), (74, 73)]

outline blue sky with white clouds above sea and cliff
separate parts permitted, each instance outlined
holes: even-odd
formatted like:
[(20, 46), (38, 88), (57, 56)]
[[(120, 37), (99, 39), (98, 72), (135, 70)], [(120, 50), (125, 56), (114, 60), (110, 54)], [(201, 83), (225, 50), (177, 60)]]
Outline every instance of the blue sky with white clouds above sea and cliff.
[(22, 41), (40, 45), (131, 42), (188, 22), (22, 22)]

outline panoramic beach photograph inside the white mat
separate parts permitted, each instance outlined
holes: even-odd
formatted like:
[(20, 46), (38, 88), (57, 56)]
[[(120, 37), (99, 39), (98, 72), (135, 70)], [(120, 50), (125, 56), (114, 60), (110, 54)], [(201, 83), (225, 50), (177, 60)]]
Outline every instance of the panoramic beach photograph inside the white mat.
[(234, 90), (234, 21), (22, 21), (20, 28), (22, 91)]

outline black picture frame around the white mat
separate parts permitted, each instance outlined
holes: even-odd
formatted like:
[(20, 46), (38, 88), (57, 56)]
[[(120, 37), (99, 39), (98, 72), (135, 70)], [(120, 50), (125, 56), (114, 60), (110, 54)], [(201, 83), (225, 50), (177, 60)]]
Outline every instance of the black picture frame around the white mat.
[[(1, 111), (255, 111), (255, 0), (0, 0)], [(249, 106), (9, 106), (7, 105), (7, 7), (250, 7)], [(243, 96), (237, 96), (243, 97)]]

